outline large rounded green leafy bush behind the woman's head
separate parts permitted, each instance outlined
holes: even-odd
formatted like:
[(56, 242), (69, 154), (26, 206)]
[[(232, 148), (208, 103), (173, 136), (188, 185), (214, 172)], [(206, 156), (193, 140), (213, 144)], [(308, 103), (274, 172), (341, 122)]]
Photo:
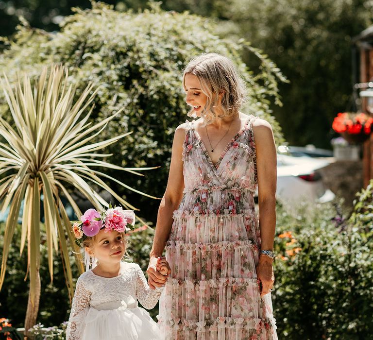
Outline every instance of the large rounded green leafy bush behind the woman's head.
[[(63, 63), (78, 88), (88, 82), (100, 85), (91, 119), (104, 119), (124, 108), (122, 115), (102, 132), (100, 140), (134, 132), (107, 149), (113, 153), (110, 162), (131, 167), (160, 166), (142, 180), (127, 175), (125, 182), (161, 197), (166, 187), (173, 132), (187, 118), (181, 74), (192, 57), (214, 51), (233, 59), (249, 84), (244, 112), (267, 119), (278, 144), (283, 139), (270, 116), (269, 103), (271, 98), (279, 102), (277, 81), (283, 77), (270, 60), (249, 44), (214, 34), (217, 27), (213, 22), (187, 13), (164, 12), (157, 4), (152, 6), (151, 10), (134, 14), (94, 2), (92, 10), (75, 10), (73, 16), (66, 17), (61, 32), (56, 34), (20, 26), (9, 49), (0, 55), (0, 68), (15, 79), (18, 70), (36, 75), (44, 65)], [(257, 60), (257, 72), (242, 62), (243, 51)], [(0, 114), (7, 116), (5, 106), (0, 106)], [(123, 177), (117, 170), (107, 173), (114, 178)], [(137, 202), (136, 207), (146, 208), (147, 220), (155, 221), (158, 201), (110, 184), (119, 194), (127, 195), (128, 201)]]

